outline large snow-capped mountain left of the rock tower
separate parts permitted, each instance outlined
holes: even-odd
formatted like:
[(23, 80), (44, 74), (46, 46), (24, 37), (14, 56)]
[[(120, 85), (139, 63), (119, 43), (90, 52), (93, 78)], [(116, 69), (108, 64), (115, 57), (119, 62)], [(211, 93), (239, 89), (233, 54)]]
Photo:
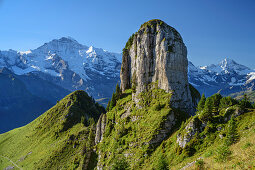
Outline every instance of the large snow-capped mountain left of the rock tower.
[(121, 54), (88, 47), (70, 37), (25, 52), (0, 51), (0, 68), (17, 75), (32, 73), (71, 91), (83, 89), (96, 99), (111, 96), (120, 66)]

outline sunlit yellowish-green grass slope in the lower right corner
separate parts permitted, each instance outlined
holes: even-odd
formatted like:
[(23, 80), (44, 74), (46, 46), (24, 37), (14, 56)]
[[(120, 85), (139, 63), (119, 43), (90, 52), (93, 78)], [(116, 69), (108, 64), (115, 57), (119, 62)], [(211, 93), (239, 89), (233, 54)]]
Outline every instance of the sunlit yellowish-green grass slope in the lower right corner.
[(221, 124), (225, 130), (211, 132), (200, 141), (196, 138), (190, 142), (195, 150), (190, 156), (178, 150), (180, 147), (176, 142), (177, 134), (183, 132), (183, 129), (180, 129), (161, 143), (152, 156), (146, 160), (143, 169), (158, 167), (162, 161), (166, 162), (169, 169), (181, 169), (189, 163), (193, 164), (187, 169), (255, 168), (255, 111), (237, 117), (236, 122), (239, 139), (229, 146), (230, 154), (226, 160), (218, 160), (220, 154), (226, 154), (226, 152), (218, 153), (219, 148), (224, 143), (224, 138), (221, 139), (219, 135), (225, 133), (224, 131), (227, 129), (227, 124)]

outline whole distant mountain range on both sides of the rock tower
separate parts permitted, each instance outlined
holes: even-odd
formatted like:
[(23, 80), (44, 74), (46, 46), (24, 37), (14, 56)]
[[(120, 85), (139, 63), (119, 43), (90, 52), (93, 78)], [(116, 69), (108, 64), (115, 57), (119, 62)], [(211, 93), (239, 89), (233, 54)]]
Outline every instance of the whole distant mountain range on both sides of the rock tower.
[[(119, 82), (121, 56), (71, 37), (25, 52), (0, 51), (0, 116), (4, 118), (0, 133), (30, 122), (74, 90), (85, 90), (106, 106)], [(206, 96), (255, 88), (255, 71), (231, 59), (203, 67), (189, 62), (188, 68), (189, 82)], [(17, 114), (24, 119), (16, 122)]]

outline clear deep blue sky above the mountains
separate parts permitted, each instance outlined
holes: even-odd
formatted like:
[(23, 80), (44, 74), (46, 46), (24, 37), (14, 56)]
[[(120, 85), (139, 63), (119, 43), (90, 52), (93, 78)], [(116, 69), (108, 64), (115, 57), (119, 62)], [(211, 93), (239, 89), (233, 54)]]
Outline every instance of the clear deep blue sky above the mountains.
[(121, 52), (150, 19), (181, 33), (195, 65), (229, 57), (255, 68), (254, 0), (0, 0), (0, 50), (35, 49), (71, 36)]

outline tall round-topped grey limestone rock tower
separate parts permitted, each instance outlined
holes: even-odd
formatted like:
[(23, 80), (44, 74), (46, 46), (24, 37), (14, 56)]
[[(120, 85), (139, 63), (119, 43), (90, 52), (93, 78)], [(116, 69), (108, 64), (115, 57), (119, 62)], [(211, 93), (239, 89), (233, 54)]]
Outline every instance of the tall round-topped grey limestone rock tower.
[(173, 107), (191, 111), (187, 69), (187, 48), (181, 35), (163, 21), (151, 20), (130, 37), (123, 49), (121, 89), (132, 87), (137, 95), (148, 84), (158, 82), (158, 88), (173, 93)]

